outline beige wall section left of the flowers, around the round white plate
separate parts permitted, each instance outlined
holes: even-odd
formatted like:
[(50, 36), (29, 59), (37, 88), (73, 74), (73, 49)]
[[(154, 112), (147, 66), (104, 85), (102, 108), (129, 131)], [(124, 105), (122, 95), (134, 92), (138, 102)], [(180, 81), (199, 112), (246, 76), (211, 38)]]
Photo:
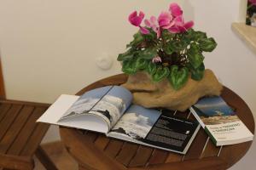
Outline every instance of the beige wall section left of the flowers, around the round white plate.
[[(169, 1), (0, 1), (0, 49), (9, 99), (53, 102), (101, 77), (120, 72), (115, 61), (137, 30), (127, 22), (134, 9), (157, 14)], [(146, 5), (144, 5), (146, 4)], [(102, 71), (96, 58), (108, 54)]]

